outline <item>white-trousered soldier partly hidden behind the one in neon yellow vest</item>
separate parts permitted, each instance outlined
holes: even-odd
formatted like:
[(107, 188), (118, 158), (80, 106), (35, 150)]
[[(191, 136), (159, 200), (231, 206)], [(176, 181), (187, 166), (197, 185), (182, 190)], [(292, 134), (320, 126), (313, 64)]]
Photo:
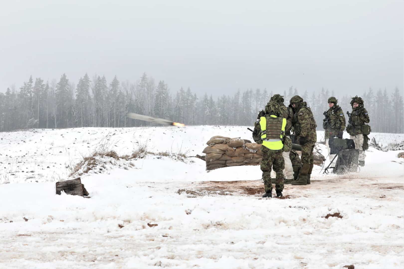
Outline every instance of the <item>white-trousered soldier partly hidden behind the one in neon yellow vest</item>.
[(286, 127), (285, 127), (285, 142), (283, 145), (282, 156), (285, 163), (285, 169), (283, 170), (283, 174), (285, 177), (284, 184), (292, 183), (293, 177), (293, 165), (290, 161), (290, 150), (292, 149), (292, 140), (290, 140), (290, 129), (292, 128), (292, 118), (293, 118), (293, 110), (290, 107), (286, 107), (284, 104), (283, 96), (280, 94), (275, 94), (271, 97), (273, 102), (277, 102), (280, 105), (282, 110), (282, 117), (286, 119)]

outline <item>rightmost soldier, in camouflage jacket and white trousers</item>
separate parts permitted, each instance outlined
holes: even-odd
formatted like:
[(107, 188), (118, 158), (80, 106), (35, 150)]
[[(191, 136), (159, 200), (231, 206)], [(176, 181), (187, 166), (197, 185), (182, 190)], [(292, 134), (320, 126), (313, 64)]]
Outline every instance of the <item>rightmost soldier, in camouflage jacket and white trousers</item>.
[(365, 165), (365, 150), (368, 149), (368, 134), (370, 133), (368, 111), (363, 107), (362, 98), (355, 96), (351, 100), (352, 113), (348, 113), (349, 121), (347, 132), (355, 143), (355, 148), (359, 150), (359, 165)]

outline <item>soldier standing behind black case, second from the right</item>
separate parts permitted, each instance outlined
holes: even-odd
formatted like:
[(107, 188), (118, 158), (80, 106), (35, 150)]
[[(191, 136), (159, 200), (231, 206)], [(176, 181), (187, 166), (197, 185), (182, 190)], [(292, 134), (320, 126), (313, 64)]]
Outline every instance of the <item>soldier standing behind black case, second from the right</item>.
[[(335, 157), (335, 154), (330, 154), (330, 146), (328, 145), (328, 142), (330, 141), (330, 138), (333, 137), (342, 138), (346, 125), (344, 113), (341, 107), (337, 105), (337, 102), (338, 100), (334, 96), (328, 98), (328, 106), (330, 108), (328, 109), (328, 111), (324, 111), (324, 138), (326, 139), (326, 146), (329, 155), (328, 159), (330, 160), (330, 162)], [(336, 160), (334, 160), (333, 163), (335, 165)]]

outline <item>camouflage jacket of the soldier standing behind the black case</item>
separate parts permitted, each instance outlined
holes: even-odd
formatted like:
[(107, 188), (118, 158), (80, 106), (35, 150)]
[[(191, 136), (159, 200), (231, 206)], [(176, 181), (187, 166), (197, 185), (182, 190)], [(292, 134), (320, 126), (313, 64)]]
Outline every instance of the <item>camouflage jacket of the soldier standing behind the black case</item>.
[(345, 116), (341, 107), (333, 106), (324, 112), (324, 114), (326, 115), (323, 120), (325, 138), (336, 136), (340, 131), (345, 129)]

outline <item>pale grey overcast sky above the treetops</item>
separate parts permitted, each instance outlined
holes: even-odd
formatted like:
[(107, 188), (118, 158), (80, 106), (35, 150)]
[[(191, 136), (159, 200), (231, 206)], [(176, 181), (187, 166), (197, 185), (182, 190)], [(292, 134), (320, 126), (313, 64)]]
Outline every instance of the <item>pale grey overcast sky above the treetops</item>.
[[(116, 3), (115, 3), (116, 2)], [(203, 94), (403, 89), (402, 0), (3, 1), (0, 91), (143, 72)]]

